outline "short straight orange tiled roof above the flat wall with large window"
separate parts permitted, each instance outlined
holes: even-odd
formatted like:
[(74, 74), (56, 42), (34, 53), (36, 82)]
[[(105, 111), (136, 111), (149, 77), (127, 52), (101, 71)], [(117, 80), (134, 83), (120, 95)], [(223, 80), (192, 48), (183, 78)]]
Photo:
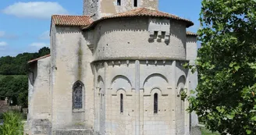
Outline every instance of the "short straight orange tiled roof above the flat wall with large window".
[(90, 16), (53, 15), (52, 22), (59, 26), (85, 27), (93, 22)]

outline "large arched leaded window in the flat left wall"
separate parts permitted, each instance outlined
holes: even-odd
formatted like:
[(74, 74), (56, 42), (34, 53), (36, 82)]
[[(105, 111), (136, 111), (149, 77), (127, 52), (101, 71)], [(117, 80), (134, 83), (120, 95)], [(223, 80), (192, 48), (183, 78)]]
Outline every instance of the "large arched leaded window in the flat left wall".
[(77, 81), (73, 85), (73, 108), (83, 108), (83, 87), (84, 84)]

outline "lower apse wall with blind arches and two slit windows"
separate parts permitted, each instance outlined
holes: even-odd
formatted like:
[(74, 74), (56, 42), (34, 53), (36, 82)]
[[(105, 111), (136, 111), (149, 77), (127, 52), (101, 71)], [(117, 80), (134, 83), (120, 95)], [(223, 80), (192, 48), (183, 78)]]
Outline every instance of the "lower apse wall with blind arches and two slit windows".
[[(181, 63), (94, 62), (98, 78), (94, 91), (94, 130), (103, 134), (189, 134), (189, 130), (185, 130), (189, 125), (189, 115), (185, 112), (187, 101), (179, 104), (182, 102), (179, 89), (187, 88), (187, 69), (183, 69)], [(123, 112), (120, 112), (121, 94)], [(154, 94), (158, 94), (157, 113), (154, 113)]]

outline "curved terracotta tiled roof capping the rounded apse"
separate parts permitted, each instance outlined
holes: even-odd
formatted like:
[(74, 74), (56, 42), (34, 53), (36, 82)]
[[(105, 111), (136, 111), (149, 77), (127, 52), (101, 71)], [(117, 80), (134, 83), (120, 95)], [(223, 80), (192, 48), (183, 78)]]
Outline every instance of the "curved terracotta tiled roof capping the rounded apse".
[(87, 29), (91, 26), (93, 26), (95, 23), (101, 21), (101, 20), (106, 20), (106, 19), (112, 19), (112, 18), (122, 18), (122, 17), (136, 17), (136, 16), (149, 16), (149, 17), (163, 17), (163, 18), (169, 18), (172, 20), (181, 20), (187, 23), (187, 27), (193, 26), (194, 23), (190, 20), (186, 20), (183, 18), (180, 18), (179, 16), (175, 16), (166, 12), (160, 12), (158, 10), (153, 10), (153, 9), (148, 9), (148, 8), (138, 8), (138, 9), (133, 9), (127, 12), (120, 12), (117, 14), (114, 14), (112, 16), (104, 16), (99, 20), (94, 21), (91, 23), (91, 25), (84, 27), (84, 29)]

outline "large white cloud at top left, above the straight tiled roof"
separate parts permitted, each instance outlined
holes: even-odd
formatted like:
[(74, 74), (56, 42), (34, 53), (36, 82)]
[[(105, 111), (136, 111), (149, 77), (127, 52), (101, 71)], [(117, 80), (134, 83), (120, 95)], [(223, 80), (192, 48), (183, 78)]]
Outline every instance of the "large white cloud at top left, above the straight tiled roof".
[(68, 13), (58, 2), (16, 2), (2, 12), (17, 17), (37, 19), (49, 19), (53, 14)]

